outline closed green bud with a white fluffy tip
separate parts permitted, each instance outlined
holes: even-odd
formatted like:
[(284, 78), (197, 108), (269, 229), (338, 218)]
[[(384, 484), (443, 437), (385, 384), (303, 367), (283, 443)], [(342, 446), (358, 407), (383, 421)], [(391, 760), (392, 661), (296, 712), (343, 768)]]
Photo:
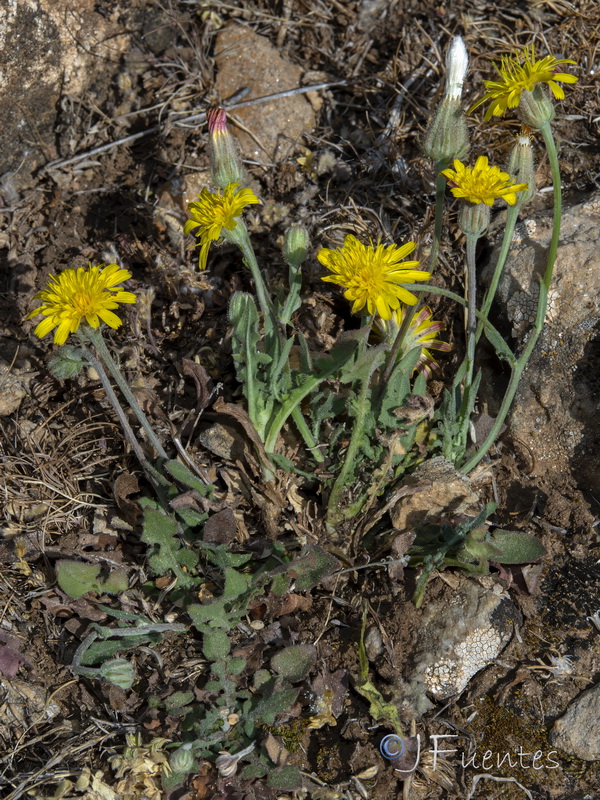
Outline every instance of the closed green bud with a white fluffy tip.
[(446, 91), (431, 118), (423, 151), (434, 161), (463, 158), (469, 152), (467, 119), (461, 107), (462, 87), (469, 57), (460, 36), (455, 36), (446, 57)]

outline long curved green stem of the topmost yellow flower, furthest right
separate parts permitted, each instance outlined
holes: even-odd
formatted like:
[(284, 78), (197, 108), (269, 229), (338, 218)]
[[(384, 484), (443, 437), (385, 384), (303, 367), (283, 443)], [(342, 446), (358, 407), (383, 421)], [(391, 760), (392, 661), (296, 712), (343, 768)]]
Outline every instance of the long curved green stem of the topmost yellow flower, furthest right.
[(548, 248), (548, 260), (546, 262), (546, 271), (544, 273), (543, 278), (541, 278), (540, 280), (540, 293), (538, 297), (538, 307), (537, 307), (535, 325), (533, 331), (531, 332), (529, 340), (525, 346), (525, 349), (523, 350), (523, 353), (521, 354), (521, 356), (517, 360), (517, 363), (513, 367), (510, 376), (510, 381), (506, 389), (504, 398), (502, 400), (502, 405), (500, 406), (500, 411), (498, 412), (498, 416), (494, 421), (492, 429), (485, 438), (481, 447), (467, 461), (467, 463), (463, 467), (461, 467), (462, 472), (465, 473), (470, 472), (474, 467), (477, 466), (477, 464), (479, 464), (481, 459), (488, 452), (492, 444), (495, 442), (496, 437), (500, 433), (500, 430), (502, 429), (502, 426), (504, 424), (504, 420), (506, 419), (508, 412), (510, 411), (512, 402), (515, 398), (515, 394), (517, 393), (517, 388), (519, 386), (519, 381), (521, 380), (521, 375), (523, 374), (523, 371), (527, 366), (527, 362), (531, 357), (533, 348), (535, 347), (537, 340), (542, 332), (542, 328), (544, 327), (544, 318), (546, 316), (546, 304), (548, 300), (548, 290), (550, 288), (550, 283), (552, 281), (552, 274), (554, 272), (554, 264), (556, 262), (556, 253), (558, 250), (558, 241), (560, 237), (562, 194), (560, 187), (560, 168), (558, 165), (558, 155), (556, 152), (556, 145), (554, 143), (554, 137), (552, 136), (552, 130), (550, 128), (550, 124), (545, 123), (540, 128), (540, 132), (543, 136), (544, 144), (546, 145), (548, 160), (550, 162), (550, 170), (552, 172), (552, 185), (554, 187), (554, 224), (552, 228), (552, 237), (550, 239), (550, 246)]

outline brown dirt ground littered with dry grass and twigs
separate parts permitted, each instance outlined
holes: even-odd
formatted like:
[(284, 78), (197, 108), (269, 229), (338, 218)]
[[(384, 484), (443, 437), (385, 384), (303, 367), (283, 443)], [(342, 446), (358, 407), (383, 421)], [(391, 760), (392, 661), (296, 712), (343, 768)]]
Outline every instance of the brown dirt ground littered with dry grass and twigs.
[[(126, 26), (127, 3), (121, 0), (121, 6)], [(361, 17), (361, 7), (367, 6), (375, 11), (371, 17)], [(383, 6), (388, 7), (388, 15), (385, 25), (380, 25), (375, 12)], [(199, 10), (214, 16), (202, 24), (196, 13)], [(284, 15), (287, 27), (282, 35)], [(217, 26), (231, 19), (276, 42), (286, 57), (303, 69), (347, 81), (345, 86), (323, 93), (316, 130), (284, 163), (276, 170), (260, 165), (249, 168), (263, 197), (290, 207), (289, 215), (293, 221), (303, 221), (315, 245), (323, 241), (320, 219), (324, 207), (331, 212), (329, 220), (336, 228), (359, 230), (374, 239), (386, 232), (396, 239), (418, 238), (423, 220), (431, 223), (432, 176), (418, 145), (439, 84), (440, 48), (445, 48), (450, 35), (464, 35), (466, 30), (474, 78), (481, 78), (479, 70), (485, 68), (487, 54), (497, 55), (515, 42), (529, 41), (529, 32), (541, 49), (568, 54), (588, 69), (595, 63), (598, 74), (600, 20), (594, 0), (536, 0), (509, 8), (487, 0), (453, 4), (430, 0), (371, 4), (243, 0), (226, 4), (214, 0), (198, 7), (173, 2), (158, 16), (162, 35), (153, 40), (154, 51), (142, 53), (146, 59), (144, 79), (127, 57), (123, 61), (123, 71), (134, 75), (135, 91), (129, 96), (132, 109), (153, 105), (167, 85), (189, 87), (194, 98), (190, 108), (204, 109), (217, 99), (213, 92), (214, 34)], [(315, 18), (319, 24), (312, 24)], [(117, 82), (111, 82), (96, 87), (95, 103), (86, 104), (85, 98), (79, 104), (65, 101), (50, 159), (131, 132), (105, 125), (117, 106), (124, 113), (125, 101), (119, 91)], [(400, 118), (382, 149), (376, 137), (402, 93)], [(597, 79), (595, 83), (580, 81), (561, 106), (557, 132), (562, 141), (567, 203), (597, 188), (597, 130), (591, 120), (598, 114), (599, 100)], [(473, 137), (480, 152), (497, 152), (498, 141), (509, 140), (507, 133), (515, 123), (484, 124), (478, 119), (473, 120), (477, 126)], [(150, 128), (156, 121), (156, 112), (150, 112), (138, 116), (135, 124)], [(90, 143), (87, 136), (85, 147), (78, 146), (95, 123), (100, 131), (98, 140)], [(164, 417), (180, 428), (195, 405), (193, 386), (182, 376), (182, 358), (198, 358), (213, 379), (224, 384), (225, 399), (239, 399), (230, 357), (226, 348), (216, 343), (226, 333), (227, 300), (236, 288), (247, 286), (247, 279), (227, 248), (213, 251), (210, 274), (200, 278), (194, 272), (194, 254), (175, 251), (165, 226), (152, 222), (154, 197), (161, 186), (185, 172), (179, 165), (192, 140), (200, 153), (197, 168), (205, 169), (206, 150), (201, 146), (205, 130), (172, 129), (165, 135), (148, 135), (130, 148), (115, 147), (83, 166), (48, 171), (41, 163), (29, 179), (19, 182), (15, 177), (13, 199), (7, 200), (6, 186), (4, 195), (0, 194), (4, 197), (0, 224), (10, 235), (10, 246), (0, 250), (2, 355), (17, 369), (27, 365), (32, 373), (18, 412), (0, 420), (4, 500), (1, 619), (3, 630), (18, 639), (27, 660), (17, 678), (3, 682), (0, 694), (0, 793), (6, 800), (82, 797), (84, 793), (74, 789), (60, 794), (60, 785), (64, 779), (76, 780), (85, 768), (92, 773), (101, 770), (106, 784), (115, 786), (108, 759), (122, 751), (126, 733), (141, 733), (144, 741), (152, 736), (178, 740), (178, 720), (152, 711), (147, 697), (165, 697), (175, 688), (187, 688), (189, 675), (201, 660), (200, 644), (191, 635), (184, 641), (167, 636), (157, 648), (158, 671), (151, 652), (136, 654), (140, 683), (135, 691), (74, 679), (69, 671), (73, 650), (89, 621), (107, 618), (97, 608), (98, 598), (73, 602), (57, 589), (57, 559), (76, 556), (92, 563), (110, 560), (122, 564), (133, 587), (127, 601), (131, 610), (158, 619), (174, 609), (168, 596), (161, 600), (162, 605), (156, 594), (145, 596), (141, 589), (147, 579), (145, 548), (135, 529), (119, 529), (114, 523), (115, 480), (126, 472), (139, 475), (139, 469), (97, 382), (87, 373), (73, 382), (54, 379), (45, 366), (48, 342), (36, 340), (32, 323), (23, 323), (32, 308), (32, 295), (49, 273), (58, 267), (84, 265), (88, 259), (98, 263), (119, 257), (134, 275), (128, 288), (151, 291), (153, 299), (147, 316), (140, 305), (131, 310), (128, 322), (136, 332), (135, 339), (116, 334), (112, 343), (132, 384), (146, 392), (146, 405), (159, 430), (162, 426), (165, 440), (169, 429)], [(333, 150), (340, 177), (328, 181), (303, 170), (297, 158), (304, 154), (305, 146), (317, 155)], [(399, 168), (396, 175), (390, 171), (394, 164)], [(548, 195), (537, 202), (548, 202)], [(365, 216), (359, 210), (362, 207), (374, 213)], [(255, 246), (264, 263), (275, 265), (270, 275), (273, 282), (283, 275), (276, 266), (281, 260), (274, 242), (288, 223), (287, 218), (276, 222), (275, 236), (267, 237), (266, 222), (259, 215), (255, 218)], [(460, 258), (456, 245), (445, 254), (438, 276), (452, 288), (460, 273)], [(209, 295), (203, 295), (206, 288), (211, 289)], [(341, 319), (348, 321), (340, 299), (323, 290), (314, 262), (307, 271), (305, 293), (312, 293), (317, 305), (313, 321), (301, 320), (301, 325), (314, 324), (323, 309), (334, 333)], [(440, 307), (437, 313), (444, 311), (445, 307)], [(454, 362), (458, 359), (456, 348), (451, 358)], [(448, 361), (448, 370), (450, 366)], [(433, 388), (439, 391), (441, 381)], [(250, 535), (258, 538), (261, 514), (248, 502), (248, 495), (242, 496), (239, 490), (236, 494), (239, 482), (231, 474), (233, 489), (227, 495), (225, 479), (235, 467), (219, 464), (195, 442), (190, 443), (188, 454), (218, 478), (221, 498), (238, 505)], [(419, 724), (421, 731), (429, 734), (458, 726), (466, 736), (474, 737), (482, 750), (489, 747), (502, 752), (507, 738), (514, 735), (523, 737), (524, 747), (546, 752), (553, 719), (600, 673), (599, 634), (586, 622), (600, 607), (597, 528), (592, 527), (597, 502), (594, 505), (568, 474), (560, 485), (532, 481), (528, 454), (518, 443), (503, 442), (494, 457), (499, 501), (496, 519), (512, 527), (531, 529), (535, 525), (548, 556), (533, 595), (514, 591), (525, 620), (522, 641), (514, 639), (502, 654), (501, 665), (478, 675), (463, 695), (439, 706)], [(306, 496), (311, 502), (303, 521), (310, 526), (314, 507), (310, 488)], [(529, 521), (532, 516), (536, 522)], [(284, 515), (284, 521), (290, 521), (289, 515)], [(291, 531), (288, 525), (283, 534), (288, 544), (293, 544)], [(365, 563), (368, 555), (359, 551), (353, 558)], [(385, 553), (378, 557), (381, 555)], [(408, 584), (413, 579), (408, 575)], [(432, 587), (434, 595), (435, 582)], [(296, 613), (294, 619), (283, 618), (283, 624), (299, 641), (319, 637), (319, 658), (329, 671), (345, 669), (355, 678), (362, 598), (368, 599), (389, 639), (409, 646), (412, 630), (419, 624), (409, 597), (408, 589), (392, 596), (386, 571), (374, 567), (346, 576), (335, 589), (313, 591), (312, 607)], [(115, 603), (108, 597), (100, 601)], [(548, 654), (553, 653), (571, 656), (575, 675), (553, 679), (548, 672), (532, 669), (548, 664)], [(393, 698), (392, 673), (387, 663), (374, 671), (373, 679)], [(303, 703), (306, 711), (310, 700), (305, 698)], [(479, 715), (471, 725), (468, 719), (474, 707)], [(381, 733), (372, 728), (366, 702), (351, 691), (336, 727), (325, 726), (310, 736), (304, 731), (295, 745), (289, 737), (283, 738), (294, 762), (320, 782), (321, 793), (314, 796), (388, 800), (400, 796), (402, 784), (378, 753)], [(371, 773), (357, 777), (370, 767), (378, 768), (375, 777)], [(217, 789), (211, 770), (206, 766), (201, 772), (205, 779), (190, 782), (173, 796), (190, 800), (274, 796), (266, 789), (241, 783), (232, 783), (227, 791), (221, 783)], [(475, 774), (454, 764), (449, 788), (444, 789), (431, 779), (431, 773), (420, 773), (408, 796), (411, 800), (467, 797)], [(507, 773), (498, 770), (495, 774)], [(600, 797), (597, 763), (565, 758), (561, 768), (552, 773), (511, 774), (534, 800)], [(475, 797), (524, 796), (514, 783), (481, 786)]]

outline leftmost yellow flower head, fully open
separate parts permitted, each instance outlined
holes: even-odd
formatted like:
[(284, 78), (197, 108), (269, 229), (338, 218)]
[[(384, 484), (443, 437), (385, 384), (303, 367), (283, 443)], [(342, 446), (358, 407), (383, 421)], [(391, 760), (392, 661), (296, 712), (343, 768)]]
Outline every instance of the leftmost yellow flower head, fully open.
[(54, 331), (54, 344), (64, 344), (69, 334), (75, 333), (83, 320), (92, 328), (98, 328), (100, 321), (111, 328), (118, 328), (121, 320), (111, 309), (119, 303), (135, 303), (132, 292), (123, 291), (119, 283), (131, 278), (131, 273), (121, 269), (118, 264), (104, 267), (89, 265), (89, 269), (65, 269), (60, 275), (50, 275), (47, 287), (35, 295), (44, 301), (26, 319), (43, 314), (43, 319), (34, 333), (42, 339)]

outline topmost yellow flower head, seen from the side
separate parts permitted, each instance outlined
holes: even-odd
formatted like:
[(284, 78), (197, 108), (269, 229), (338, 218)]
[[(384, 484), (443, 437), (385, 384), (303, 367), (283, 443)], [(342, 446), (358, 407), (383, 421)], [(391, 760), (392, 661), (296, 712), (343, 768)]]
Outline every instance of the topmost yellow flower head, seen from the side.
[(560, 83), (576, 83), (577, 78), (568, 72), (557, 72), (556, 68), (559, 64), (575, 63), (568, 58), (554, 58), (554, 56), (545, 56), (536, 61), (533, 45), (516, 55), (503, 56), (499, 67), (494, 64), (500, 80), (484, 81), (485, 95), (471, 106), (469, 113), (490, 100), (485, 119), (498, 117), (504, 114), (507, 108), (516, 108), (519, 105), (522, 91), (532, 92), (540, 83), (547, 83), (554, 97), (562, 100), (565, 90)]

